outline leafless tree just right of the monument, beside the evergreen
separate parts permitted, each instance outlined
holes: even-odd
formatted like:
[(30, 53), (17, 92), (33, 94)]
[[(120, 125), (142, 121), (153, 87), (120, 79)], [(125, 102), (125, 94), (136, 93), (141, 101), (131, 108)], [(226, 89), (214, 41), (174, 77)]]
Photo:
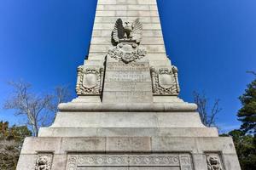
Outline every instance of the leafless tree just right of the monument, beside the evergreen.
[(219, 99), (215, 99), (212, 108), (208, 110), (208, 99), (205, 94), (194, 92), (194, 102), (198, 106), (197, 111), (201, 117), (201, 122), (207, 126), (215, 126), (217, 114), (222, 110), (219, 107)]

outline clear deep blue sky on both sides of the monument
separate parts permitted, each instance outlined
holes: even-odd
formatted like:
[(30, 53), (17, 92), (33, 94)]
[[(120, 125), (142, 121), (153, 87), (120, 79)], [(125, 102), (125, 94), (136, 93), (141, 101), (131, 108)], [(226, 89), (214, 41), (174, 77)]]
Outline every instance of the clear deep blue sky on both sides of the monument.
[[(256, 71), (255, 0), (158, 0), (167, 54), (179, 69), (181, 98), (194, 90), (221, 99), (218, 126), (240, 126), (238, 97)], [(0, 105), (7, 82), (22, 78), (36, 92), (68, 84), (84, 61), (96, 0), (0, 0)], [(20, 123), (0, 109), (0, 120)]]

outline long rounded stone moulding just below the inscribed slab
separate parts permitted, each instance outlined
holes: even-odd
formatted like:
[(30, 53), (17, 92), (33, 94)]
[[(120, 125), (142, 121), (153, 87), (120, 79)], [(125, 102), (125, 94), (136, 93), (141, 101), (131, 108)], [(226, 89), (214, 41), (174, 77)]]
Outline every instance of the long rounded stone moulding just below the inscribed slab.
[(172, 112), (189, 111), (195, 112), (197, 105), (189, 103), (154, 103), (154, 104), (87, 104), (87, 103), (67, 103), (58, 106), (60, 111), (88, 111), (88, 112)]

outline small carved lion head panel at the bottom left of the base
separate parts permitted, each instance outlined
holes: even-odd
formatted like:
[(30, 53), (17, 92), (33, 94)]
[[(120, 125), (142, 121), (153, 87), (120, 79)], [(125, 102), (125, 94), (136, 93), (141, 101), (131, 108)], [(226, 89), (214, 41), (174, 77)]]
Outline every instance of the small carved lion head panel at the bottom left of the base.
[(52, 155), (38, 155), (35, 170), (50, 170)]

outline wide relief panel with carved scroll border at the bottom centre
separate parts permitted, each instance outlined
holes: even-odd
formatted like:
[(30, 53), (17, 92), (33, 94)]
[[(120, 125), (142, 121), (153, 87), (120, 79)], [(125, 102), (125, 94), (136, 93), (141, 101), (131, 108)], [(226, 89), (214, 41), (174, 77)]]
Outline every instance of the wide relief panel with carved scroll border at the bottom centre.
[[(69, 154), (67, 156), (67, 170), (82, 170), (88, 167), (92, 169), (116, 169), (117, 167), (135, 169), (180, 169), (192, 170), (192, 162), (189, 154)], [(164, 168), (163, 168), (164, 169)]]

